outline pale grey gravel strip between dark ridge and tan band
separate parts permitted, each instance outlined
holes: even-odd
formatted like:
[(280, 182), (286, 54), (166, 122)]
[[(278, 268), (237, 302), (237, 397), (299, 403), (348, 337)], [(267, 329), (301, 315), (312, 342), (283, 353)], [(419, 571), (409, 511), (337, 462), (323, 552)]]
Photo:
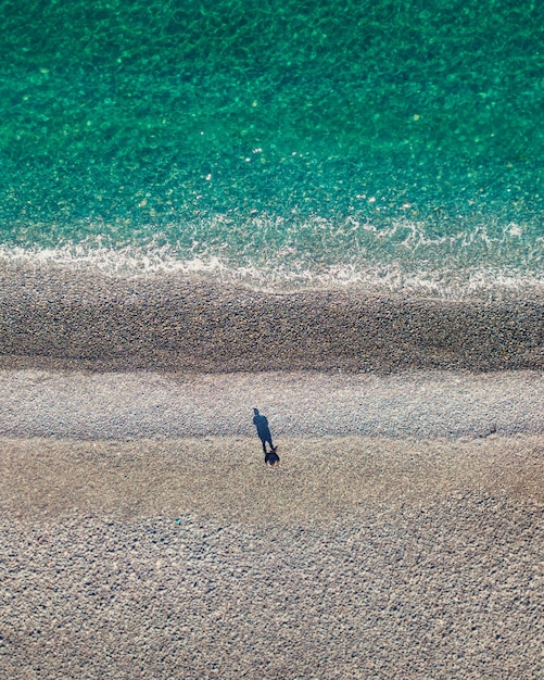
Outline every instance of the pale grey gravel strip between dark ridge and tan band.
[(0, 436), (488, 437), (544, 433), (544, 374), (159, 374), (0, 370)]

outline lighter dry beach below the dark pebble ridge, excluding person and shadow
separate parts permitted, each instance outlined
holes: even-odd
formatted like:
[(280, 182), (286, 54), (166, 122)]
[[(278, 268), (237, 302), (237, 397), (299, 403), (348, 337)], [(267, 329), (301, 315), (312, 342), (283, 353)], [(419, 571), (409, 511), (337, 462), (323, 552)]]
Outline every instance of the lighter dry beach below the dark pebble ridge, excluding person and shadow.
[(541, 383), (3, 370), (4, 677), (540, 678)]

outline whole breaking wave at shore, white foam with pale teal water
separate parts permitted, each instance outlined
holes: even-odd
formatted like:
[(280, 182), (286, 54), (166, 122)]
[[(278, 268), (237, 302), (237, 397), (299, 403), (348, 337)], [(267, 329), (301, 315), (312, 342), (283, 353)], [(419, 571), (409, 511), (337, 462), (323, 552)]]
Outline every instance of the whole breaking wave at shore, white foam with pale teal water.
[[(456, 300), (544, 293), (544, 237), (529, 238), (518, 224), (430, 236), (426, 225), (408, 221), (383, 228), (350, 217), (301, 224), (265, 216), (239, 225), (216, 215), (191, 228), (190, 244), (187, 238), (173, 244), (151, 226), (152, 236), (140, 242), (96, 235), (55, 247), (4, 244), (0, 265), (123, 277), (179, 274), (256, 290), (357, 287)], [(206, 241), (211, 234), (223, 234), (223, 242)]]

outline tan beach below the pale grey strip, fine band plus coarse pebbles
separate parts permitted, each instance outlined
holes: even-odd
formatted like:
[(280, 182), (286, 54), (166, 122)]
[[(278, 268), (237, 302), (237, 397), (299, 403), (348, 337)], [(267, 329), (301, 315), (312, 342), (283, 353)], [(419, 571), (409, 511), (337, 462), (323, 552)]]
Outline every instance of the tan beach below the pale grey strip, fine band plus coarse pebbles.
[(2, 439), (16, 679), (540, 678), (544, 439)]

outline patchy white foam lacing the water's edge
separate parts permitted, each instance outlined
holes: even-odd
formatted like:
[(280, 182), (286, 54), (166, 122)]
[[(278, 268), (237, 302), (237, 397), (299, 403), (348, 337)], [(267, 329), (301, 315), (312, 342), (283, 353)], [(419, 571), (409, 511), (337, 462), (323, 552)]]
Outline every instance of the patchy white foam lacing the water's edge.
[[(223, 223), (225, 216), (218, 215), (216, 219)], [(270, 221), (257, 216), (251, 224), (271, 232), (278, 228), (278, 219), (281, 222), (281, 218)], [(388, 228), (379, 229), (353, 218), (331, 225), (316, 217), (311, 226), (314, 230), (337, 229), (343, 236), (353, 234), (350, 262), (333, 265), (313, 262), (308, 253), (299, 251), (296, 229), (288, 226), (288, 234), (293, 230), (291, 242), (276, 251), (270, 249), (266, 259), (263, 255), (260, 259), (245, 256), (237, 263), (217, 254), (192, 254), (192, 249), (186, 251), (184, 256), (176, 248), (160, 245), (155, 241), (114, 249), (104, 244), (105, 239), (99, 236), (59, 248), (0, 245), (0, 265), (67, 267), (123, 277), (177, 274), (188, 278), (243, 284), (257, 290), (354, 287), (371, 293), (455, 300), (544, 294), (544, 239), (533, 241), (536, 250), (526, 254), (523, 262), (514, 265), (501, 261), (501, 254), (504, 256), (508, 247), (513, 245), (510, 240), (519, 241), (521, 238), (523, 229), (520, 225), (507, 225), (501, 238), (491, 237), (484, 227), (471, 232), (430, 238), (422, 225), (407, 221), (393, 222)], [(370, 235), (371, 242), (365, 243), (365, 235)], [(369, 253), (377, 250), (377, 243), (388, 247), (383, 264), (369, 257)], [(394, 244), (393, 252), (391, 243)], [(466, 262), (459, 262), (459, 254), (466, 255)]]

